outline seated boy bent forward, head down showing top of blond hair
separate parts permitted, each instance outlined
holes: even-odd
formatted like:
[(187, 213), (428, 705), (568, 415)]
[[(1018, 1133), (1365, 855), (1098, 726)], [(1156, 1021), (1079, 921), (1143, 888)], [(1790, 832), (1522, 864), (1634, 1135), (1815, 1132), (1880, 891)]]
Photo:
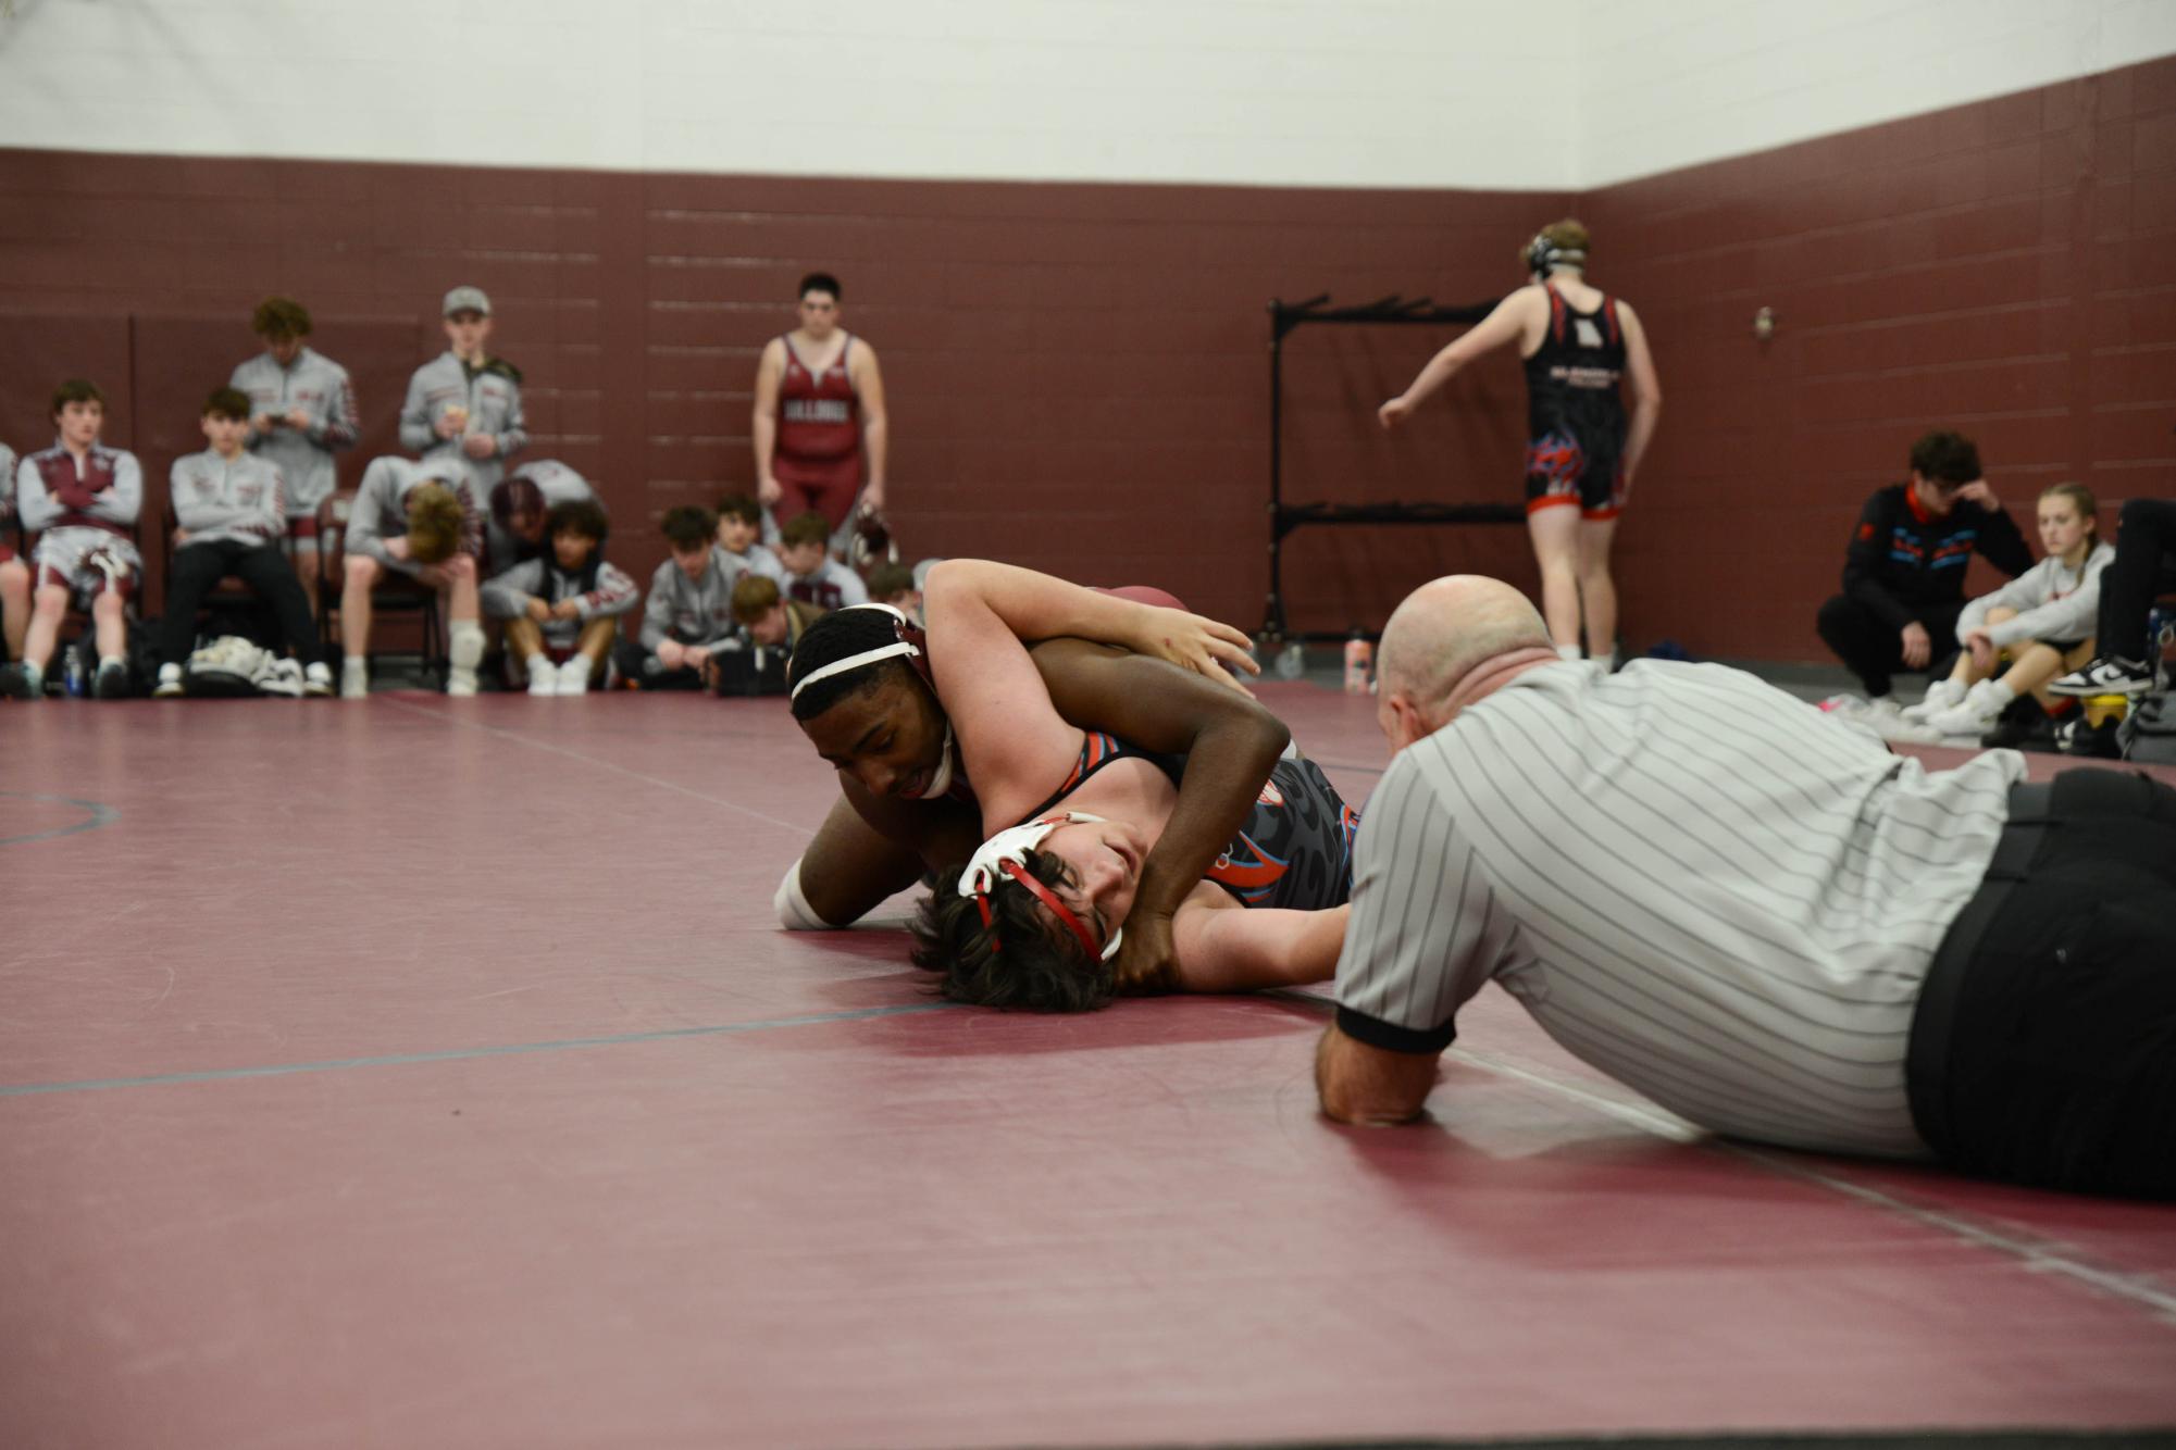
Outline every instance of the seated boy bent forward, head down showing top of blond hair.
[(405, 574), (446, 602), (446, 693), (477, 693), (483, 624), (477, 598), (477, 550), (483, 515), (459, 459), (374, 459), (363, 470), (348, 515), (339, 589), (339, 698), (370, 693), (370, 591), (387, 574)]

